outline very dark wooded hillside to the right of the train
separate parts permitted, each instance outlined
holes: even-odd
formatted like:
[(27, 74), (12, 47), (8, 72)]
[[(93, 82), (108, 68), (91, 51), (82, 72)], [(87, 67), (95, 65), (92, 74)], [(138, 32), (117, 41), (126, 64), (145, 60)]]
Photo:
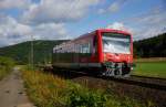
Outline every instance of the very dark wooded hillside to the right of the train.
[(166, 33), (134, 42), (135, 57), (166, 57)]

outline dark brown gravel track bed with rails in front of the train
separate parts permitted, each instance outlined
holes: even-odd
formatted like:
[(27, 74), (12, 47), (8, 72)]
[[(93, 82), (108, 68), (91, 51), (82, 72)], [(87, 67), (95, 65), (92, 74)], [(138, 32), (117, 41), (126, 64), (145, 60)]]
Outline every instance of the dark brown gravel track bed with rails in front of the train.
[(163, 79), (135, 76), (128, 78), (101, 77), (74, 71), (53, 71), (53, 74), (92, 89), (117, 94), (122, 98), (128, 96), (144, 104), (154, 103), (154, 106), (151, 107), (166, 107), (166, 84)]

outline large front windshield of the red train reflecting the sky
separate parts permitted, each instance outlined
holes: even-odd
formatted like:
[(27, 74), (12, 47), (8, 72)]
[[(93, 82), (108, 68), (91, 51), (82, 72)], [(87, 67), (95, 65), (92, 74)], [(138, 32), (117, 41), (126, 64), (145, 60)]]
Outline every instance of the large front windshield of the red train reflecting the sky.
[(103, 52), (131, 53), (131, 36), (121, 33), (103, 33)]

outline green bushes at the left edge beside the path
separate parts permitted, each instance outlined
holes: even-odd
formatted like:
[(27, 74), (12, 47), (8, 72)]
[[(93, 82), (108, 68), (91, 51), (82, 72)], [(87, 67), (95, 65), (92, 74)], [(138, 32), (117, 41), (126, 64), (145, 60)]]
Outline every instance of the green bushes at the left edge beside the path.
[(0, 56), (0, 79), (11, 72), (14, 61), (9, 57)]

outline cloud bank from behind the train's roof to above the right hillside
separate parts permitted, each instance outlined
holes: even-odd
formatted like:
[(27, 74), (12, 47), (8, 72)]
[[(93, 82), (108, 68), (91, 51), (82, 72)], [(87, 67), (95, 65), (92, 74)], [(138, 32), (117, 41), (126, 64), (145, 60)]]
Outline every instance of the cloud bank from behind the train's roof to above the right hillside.
[(133, 39), (143, 40), (166, 32), (165, 8), (155, 7), (142, 14), (114, 22), (107, 28), (125, 30), (133, 34)]

